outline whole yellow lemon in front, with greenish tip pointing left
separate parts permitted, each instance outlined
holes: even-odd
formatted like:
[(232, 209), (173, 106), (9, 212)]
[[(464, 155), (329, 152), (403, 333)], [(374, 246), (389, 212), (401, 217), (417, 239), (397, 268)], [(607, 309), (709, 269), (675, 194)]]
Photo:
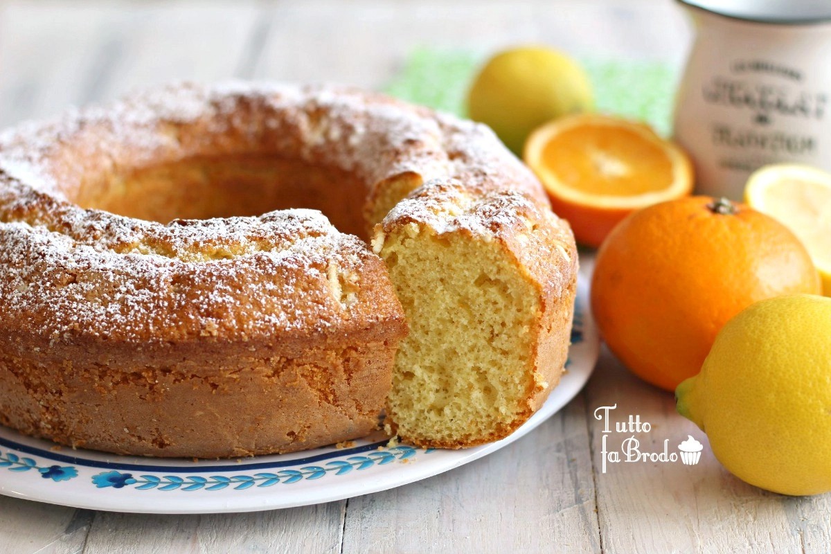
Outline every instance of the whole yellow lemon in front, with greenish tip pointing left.
[(678, 412), (736, 477), (774, 493), (831, 491), (831, 298), (756, 302), (727, 322)]

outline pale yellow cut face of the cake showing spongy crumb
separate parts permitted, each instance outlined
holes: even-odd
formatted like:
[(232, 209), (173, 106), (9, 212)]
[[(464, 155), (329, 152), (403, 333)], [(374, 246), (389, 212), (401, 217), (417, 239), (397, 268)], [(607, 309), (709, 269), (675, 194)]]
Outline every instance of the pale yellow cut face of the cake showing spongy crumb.
[[(473, 248), (472, 248), (473, 247)], [(496, 241), (420, 228), (381, 249), (410, 324), (388, 406), (408, 440), (488, 440), (527, 412), (538, 294)]]

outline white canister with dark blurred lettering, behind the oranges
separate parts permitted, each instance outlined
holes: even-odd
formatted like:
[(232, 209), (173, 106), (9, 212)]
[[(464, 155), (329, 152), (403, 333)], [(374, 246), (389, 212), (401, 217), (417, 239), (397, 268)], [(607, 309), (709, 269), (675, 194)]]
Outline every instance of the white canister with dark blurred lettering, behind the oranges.
[(679, 0), (696, 40), (676, 100), (676, 141), (696, 191), (741, 199), (754, 169), (831, 170), (831, 0)]

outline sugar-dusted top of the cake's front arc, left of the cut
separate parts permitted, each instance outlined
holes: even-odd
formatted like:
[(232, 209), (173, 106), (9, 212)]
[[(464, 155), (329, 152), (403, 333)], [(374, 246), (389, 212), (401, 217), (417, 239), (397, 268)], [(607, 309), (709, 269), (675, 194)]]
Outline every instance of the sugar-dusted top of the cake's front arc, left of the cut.
[[(322, 317), (323, 311), (345, 310), (323, 287), (328, 268), (336, 264), (356, 274), (369, 254), (357, 238), (316, 224), (327, 222), (319, 213), (308, 215), (279, 213), (268, 222), (237, 222), (234, 248), (244, 248), (244, 253), (224, 250), (217, 256), (214, 250), (209, 262), (203, 253), (195, 263), (155, 253), (114, 252), (43, 227), (5, 223), (0, 226), (5, 245), (0, 251), (5, 273), (0, 293), (8, 316), (48, 330), (55, 340), (67, 331), (96, 329), (101, 321), (109, 322), (112, 330), (106, 338), (126, 339), (141, 336), (149, 325), (184, 326), (194, 333), (224, 326), (251, 336), (322, 331), (334, 323), (331, 316)], [(295, 234), (289, 238), (289, 233)], [(203, 233), (183, 234), (184, 245), (198, 243)], [(237, 321), (238, 308), (253, 310), (258, 317)], [(311, 326), (302, 313), (317, 315)]]

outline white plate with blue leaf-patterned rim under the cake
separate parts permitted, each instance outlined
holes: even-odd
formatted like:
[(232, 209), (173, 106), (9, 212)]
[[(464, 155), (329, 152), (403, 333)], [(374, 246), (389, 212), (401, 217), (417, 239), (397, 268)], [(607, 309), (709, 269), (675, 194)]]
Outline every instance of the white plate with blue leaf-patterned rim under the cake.
[(473, 449), (387, 447), (381, 435), (345, 449), (239, 460), (138, 458), (73, 450), (0, 426), (0, 493), (64, 506), (145, 513), (253, 512), (326, 503), (413, 483), (511, 444), (568, 404), (597, 361), (597, 328), (581, 276), (563, 379), (514, 434)]

